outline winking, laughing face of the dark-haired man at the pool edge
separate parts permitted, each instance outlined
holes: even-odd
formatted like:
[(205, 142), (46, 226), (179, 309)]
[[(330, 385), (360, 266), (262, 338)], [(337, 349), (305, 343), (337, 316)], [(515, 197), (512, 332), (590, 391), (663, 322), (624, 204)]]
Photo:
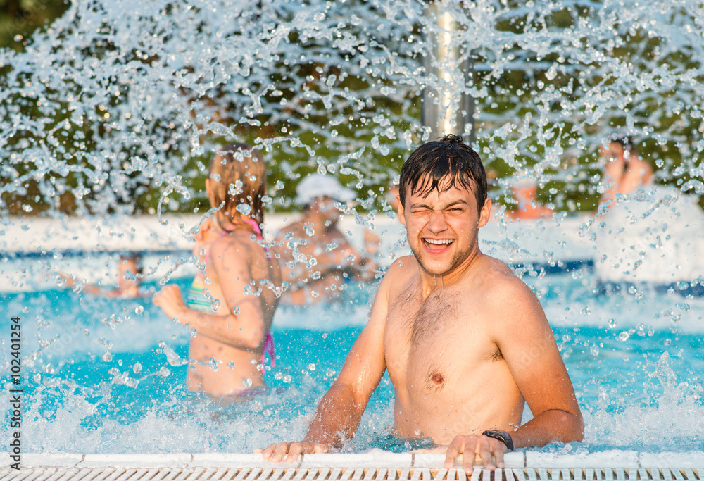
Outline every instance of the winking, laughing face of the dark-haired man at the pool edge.
[(425, 198), (407, 189), (406, 204), (398, 207), (410, 249), (432, 275), (451, 273), (478, 251), (477, 232), (489, 221), (490, 212), (491, 199), (478, 211), (474, 192), (455, 186), (441, 193), (434, 190)]

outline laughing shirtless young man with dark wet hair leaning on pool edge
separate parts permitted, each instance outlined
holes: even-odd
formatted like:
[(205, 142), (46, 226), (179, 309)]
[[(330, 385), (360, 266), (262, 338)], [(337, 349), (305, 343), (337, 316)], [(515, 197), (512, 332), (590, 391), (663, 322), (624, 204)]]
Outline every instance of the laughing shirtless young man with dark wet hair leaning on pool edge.
[[(386, 272), (306, 438), (272, 444), (264, 458), (293, 461), (353, 436), (384, 370), (396, 434), (432, 437), (448, 468), (460, 454), (469, 474), (475, 456), (493, 470), (508, 449), (582, 440), (572, 382), (536, 296), (479, 251), (491, 211), (479, 156), (453, 135), (420, 146), (403, 165), (398, 197), (413, 256)], [(524, 402), (534, 418), (521, 425)]]

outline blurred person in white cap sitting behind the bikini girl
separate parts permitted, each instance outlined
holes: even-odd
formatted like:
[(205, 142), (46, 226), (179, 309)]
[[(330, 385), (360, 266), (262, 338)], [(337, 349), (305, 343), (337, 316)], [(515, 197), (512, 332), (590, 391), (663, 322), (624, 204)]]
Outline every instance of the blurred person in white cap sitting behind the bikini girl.
[(296, 187), (296, 204), (302, 217), (277, 235), (276, 251), (282, 261), (283, 280), (289, 288), (286, 304), (313, 304), (338, 292), (346, 280), (369, 281), (376, 264), (360, 254), (337, 228), (337, 202), (348, 202), (355, 193), (332, 177), (306, 176)]

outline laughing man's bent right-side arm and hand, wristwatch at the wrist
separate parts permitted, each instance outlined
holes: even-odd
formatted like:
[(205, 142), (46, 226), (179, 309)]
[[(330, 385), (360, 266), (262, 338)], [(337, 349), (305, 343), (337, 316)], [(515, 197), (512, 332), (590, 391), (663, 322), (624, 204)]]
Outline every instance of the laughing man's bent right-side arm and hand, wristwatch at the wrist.
[[(515, 278), (487, 296), (494, 342), (528, 403), (533, 419), (509, 432), (514, 448), (584, 439), (584, 421), (565, 363), (555, 344), (543, 308), (533, 292)], [(488, 427), (491, 429), (491, 427)], [(445, 467), (463, 456), (467, 475), (477, 456), (484, 467), (503, 468), (503, 442), (486, 435), (458, 435), (446, 449)]]

